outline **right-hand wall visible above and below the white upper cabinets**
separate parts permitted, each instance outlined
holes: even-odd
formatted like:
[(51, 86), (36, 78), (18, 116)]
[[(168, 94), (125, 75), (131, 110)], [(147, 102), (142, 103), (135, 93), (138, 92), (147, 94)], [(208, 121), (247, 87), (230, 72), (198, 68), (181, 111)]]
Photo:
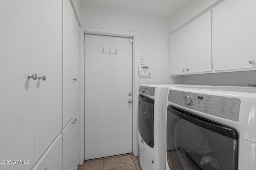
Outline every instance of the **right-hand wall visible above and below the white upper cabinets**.
[[(169, 33), (216, 1), (218, 0), (193, 0), (185, 3), (169, 19)], [(246, 86), (256, 83), (256, 71), (196, 74), (182, 77), (184, 84)]]

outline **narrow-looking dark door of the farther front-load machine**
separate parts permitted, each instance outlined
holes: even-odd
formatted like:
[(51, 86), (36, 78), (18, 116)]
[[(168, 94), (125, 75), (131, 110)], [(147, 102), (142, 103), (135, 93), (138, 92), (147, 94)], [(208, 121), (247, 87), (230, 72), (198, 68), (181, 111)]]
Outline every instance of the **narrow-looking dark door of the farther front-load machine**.
[(154, 100), (139, 95), (138, 129), (142, 140), (154, 147)]

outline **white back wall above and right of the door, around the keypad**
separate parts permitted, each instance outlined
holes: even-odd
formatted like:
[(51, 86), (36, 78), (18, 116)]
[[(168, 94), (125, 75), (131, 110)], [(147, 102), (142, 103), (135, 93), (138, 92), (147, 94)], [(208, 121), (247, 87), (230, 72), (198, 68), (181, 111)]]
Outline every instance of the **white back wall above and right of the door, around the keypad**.
[(139, 84), (183, 83), (182, 77), (168, 75), (168, 19), (84, 5), (80, 22), (84, 27), (138, 32), (138, 55), (152, 67), (152, 76), (141, 76)]

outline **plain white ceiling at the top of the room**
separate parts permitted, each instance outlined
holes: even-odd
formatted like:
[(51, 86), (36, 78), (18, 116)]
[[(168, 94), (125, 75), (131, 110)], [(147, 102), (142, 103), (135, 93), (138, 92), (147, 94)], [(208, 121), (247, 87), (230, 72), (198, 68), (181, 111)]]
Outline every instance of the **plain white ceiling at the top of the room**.
[(188, 0), (81, 0), (84, 5), (170, 17)]

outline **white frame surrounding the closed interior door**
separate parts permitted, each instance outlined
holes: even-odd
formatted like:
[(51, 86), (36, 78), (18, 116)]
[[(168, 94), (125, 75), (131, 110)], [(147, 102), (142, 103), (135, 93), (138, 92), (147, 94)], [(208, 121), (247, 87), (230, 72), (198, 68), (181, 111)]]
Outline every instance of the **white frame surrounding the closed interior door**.
[(80, 162), (84, 162), (84, 35), (108, 35), (133, 38), (132, 55), (132, 152), (138, 156), (138, 33), (114, 29), (80, 27)]

